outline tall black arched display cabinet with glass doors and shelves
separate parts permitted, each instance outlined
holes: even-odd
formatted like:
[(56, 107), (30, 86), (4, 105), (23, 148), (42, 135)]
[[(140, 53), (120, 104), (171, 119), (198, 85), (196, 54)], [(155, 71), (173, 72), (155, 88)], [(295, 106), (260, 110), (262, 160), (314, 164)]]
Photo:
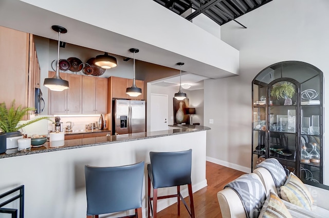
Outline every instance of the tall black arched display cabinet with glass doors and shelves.
[(286, 61), (252, 81), (251, 171), (274, 157), (302, 181), (323, 183), (323, 73)]

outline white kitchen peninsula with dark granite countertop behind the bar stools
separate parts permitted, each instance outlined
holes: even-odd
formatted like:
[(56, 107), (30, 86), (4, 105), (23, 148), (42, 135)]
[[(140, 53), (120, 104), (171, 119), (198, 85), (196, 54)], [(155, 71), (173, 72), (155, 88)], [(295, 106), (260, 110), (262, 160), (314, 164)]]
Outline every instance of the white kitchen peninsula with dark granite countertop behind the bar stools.
[[(84, 165), (119, 166), (144, 161), (146, 167), (150, 163), (150, 151), (180, 151), (190, 148), (191, 178), (195, 192), (207, 186), (206, 130), (210, 128), (186, 125), (165, 131), (65, 140), (65, 145), (57, 148), (50, 147), (47, 142), (43, 147), (32, 148), (28, 152), (7, 151), (0, 155), (3, 178), (0, 180), (0, 193), (25, 185), (26, 217), (84, 217), (87, 206)], [(144, 179), (144, 190), (147, 187), (146, 179), (147, 177)], [(186, 187), (182, 186), (182, 189), (186, 196)], [(175, 188), (166, 188), (159, 192), (173, 191)], [(160, 201), (158, 208), (161, 210), (174, 202), (175, 199)], [(144, 214), (145, 210), (143, 195)]]

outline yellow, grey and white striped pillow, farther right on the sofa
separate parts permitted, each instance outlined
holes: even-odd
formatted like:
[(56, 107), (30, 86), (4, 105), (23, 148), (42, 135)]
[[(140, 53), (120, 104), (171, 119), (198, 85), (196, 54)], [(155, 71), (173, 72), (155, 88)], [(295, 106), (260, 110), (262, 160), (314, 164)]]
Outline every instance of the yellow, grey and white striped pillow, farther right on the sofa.
[(281, 186), (281, 197), (291, 204), (312, 210), (313, 197), (304, 183), (293, 172), (290, 172), (287, 181)]

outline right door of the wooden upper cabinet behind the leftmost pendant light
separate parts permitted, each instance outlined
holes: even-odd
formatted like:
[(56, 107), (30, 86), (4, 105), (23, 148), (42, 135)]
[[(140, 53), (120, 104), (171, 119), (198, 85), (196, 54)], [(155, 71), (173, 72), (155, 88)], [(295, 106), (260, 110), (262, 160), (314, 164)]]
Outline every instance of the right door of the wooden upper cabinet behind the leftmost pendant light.
[(82, 77), (77, 74), (67, 74), (69, 89), (67, 89), (67, 114), (82, 113)]

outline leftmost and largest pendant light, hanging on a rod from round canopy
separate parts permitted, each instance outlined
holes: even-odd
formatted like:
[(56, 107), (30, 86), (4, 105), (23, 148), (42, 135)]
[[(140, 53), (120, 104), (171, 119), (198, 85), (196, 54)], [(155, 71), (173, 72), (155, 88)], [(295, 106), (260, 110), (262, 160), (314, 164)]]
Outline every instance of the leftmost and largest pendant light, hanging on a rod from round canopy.
[(45, 78), (45, 81), (43, 85), (50, 89), (51, 91), (63, 91), (65, 89), (68, 89), (68, 81), (63, 80), (60, 77), (59, 73), (59, 62), (60, 62), (60, 38), (61, 38), (61, 33), (67, 33), (67, 29), (61, 26), (51, 26), (51, 29), (58, 32), (58, 51), (57, 51), (57, 65), (56, 65), (56, 73), (52, 78)]

